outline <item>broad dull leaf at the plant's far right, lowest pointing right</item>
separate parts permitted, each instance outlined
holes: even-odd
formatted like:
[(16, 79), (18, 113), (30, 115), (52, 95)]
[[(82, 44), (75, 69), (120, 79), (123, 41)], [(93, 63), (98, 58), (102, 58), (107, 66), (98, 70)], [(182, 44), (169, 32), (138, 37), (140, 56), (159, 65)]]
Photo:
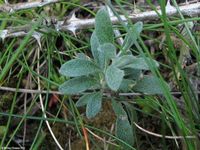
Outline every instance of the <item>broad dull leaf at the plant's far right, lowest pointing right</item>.
[(133, 90), (145, 94), (163, 94), (159, 79), (152, 75), (144, 76), (133, 87)]

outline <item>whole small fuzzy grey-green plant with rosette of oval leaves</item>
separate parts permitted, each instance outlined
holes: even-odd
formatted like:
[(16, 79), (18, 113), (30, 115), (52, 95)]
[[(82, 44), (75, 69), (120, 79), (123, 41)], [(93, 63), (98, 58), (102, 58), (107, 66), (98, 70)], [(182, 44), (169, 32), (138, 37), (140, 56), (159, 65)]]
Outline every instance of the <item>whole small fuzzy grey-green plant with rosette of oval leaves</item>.
[[(142, 74), (143, 70), (150, 70), (145, 60), (150, 58), (134, 56), (129, 50), (142, 28), (142, 22), (130, 27), (121, 50), (117, 52), (112, 23), (106, 9), (102, 8), (96, 15), (95, 30), (90, 39), (93, 58), (81, 53), (60, 68), (62, 75), (71, 78), (59, 87), (59, 91), (68, 95), (83, 94), (76, 106), (86, 105), (88, 118), (93, 118), (100, 112), (104, 93), (110, 95), (117, 116), (116, 135), (130, 145), (134, 143), (132, 126), (122, 104), (113, 95), (128, 91), (162, 93), (156, 77)], [(159, 66), (156, 61), (153, 63), (154, 66)], [(84, 94), (86, 90), (89, 92)]]

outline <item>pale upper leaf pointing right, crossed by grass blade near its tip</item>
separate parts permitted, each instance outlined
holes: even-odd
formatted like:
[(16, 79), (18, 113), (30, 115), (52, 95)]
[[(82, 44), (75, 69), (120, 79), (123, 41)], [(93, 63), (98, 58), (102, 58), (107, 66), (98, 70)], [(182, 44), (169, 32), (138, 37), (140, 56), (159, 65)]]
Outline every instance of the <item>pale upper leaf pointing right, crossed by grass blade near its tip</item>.
[[(133, 69), (140, 69), (140, 70), (150, 70), (150, 67), (149, 65), (147, 64), (146, 60), (145, 59), (148, 59), (149, 61), (150, 58), (142, 58), (142, 57), (135, 57), (133, 58), (133, 62), (126, 65), (125, 68), (133, 68)], [(159, 64), (157, 61), (153, 60), (153, 66), (155, 67), (159, 67)]]

